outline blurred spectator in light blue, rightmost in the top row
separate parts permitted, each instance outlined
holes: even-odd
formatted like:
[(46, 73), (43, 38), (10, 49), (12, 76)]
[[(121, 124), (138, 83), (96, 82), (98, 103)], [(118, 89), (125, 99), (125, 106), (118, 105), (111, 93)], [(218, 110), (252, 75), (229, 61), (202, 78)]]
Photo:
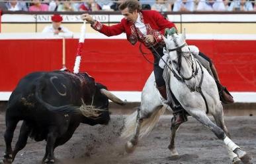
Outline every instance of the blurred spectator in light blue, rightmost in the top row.
[(228, 11), (253, 11), (253, 4), (247, 0), (234, 0), (230, 3)]

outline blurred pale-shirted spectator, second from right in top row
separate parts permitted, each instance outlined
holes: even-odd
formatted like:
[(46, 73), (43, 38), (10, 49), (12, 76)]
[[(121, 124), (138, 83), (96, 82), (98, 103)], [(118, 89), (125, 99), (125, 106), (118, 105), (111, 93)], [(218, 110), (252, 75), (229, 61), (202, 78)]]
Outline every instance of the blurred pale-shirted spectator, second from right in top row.
[(222, 0), (200, 0), (196, 11), (225, 11)]

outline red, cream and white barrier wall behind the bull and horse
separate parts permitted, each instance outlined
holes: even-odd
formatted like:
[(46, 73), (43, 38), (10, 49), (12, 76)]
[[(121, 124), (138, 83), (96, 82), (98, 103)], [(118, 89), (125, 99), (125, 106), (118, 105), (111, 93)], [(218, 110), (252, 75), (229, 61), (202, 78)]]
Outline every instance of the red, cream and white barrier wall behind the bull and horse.
[[(60, 13), (73, 38), (41, 34), (53, 13), (4, 11), (0, 34), (0, 100), (7, 100), (25, 74), (59, 70), (63, 62), (73, 70), (81, 28), (81, 13)], [(119, 22), (118, 12), (92, 13), (111, 25)], [(214, 61), (224, 86), (237, 102), (256, 102), (256, 13), (166, 13), (179, 32), (186, 29), (187, 42), (196, 45)], [(144, 51), (149, 51), (144, 47)], [(64, 56), (65, 55), (65, 56)], [(151, 55), (146, 55), (152, 59)], [(63, 60), (65, 59), (65, 60)], [(152, 65), (130, 45), (125, 34), (106, 37), (87, 24), (81, 71), (102, 82), (114, 94), (128, 101), (140, 101), (140, 92)]]

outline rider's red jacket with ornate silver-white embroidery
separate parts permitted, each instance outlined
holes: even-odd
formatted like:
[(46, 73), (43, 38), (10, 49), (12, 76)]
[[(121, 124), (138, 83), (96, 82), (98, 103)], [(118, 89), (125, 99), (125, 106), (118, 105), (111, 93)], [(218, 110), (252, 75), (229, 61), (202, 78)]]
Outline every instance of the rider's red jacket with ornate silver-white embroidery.
[[(175, 27), (173, 22), (169, 22), (157, 11), (140, 11), (140, 18), (142, 22), (144, 22), (147, 35), (153, 35), (155, 38), (155, 44), (163, 42), (163, 34), (165, 32), (165, 28)], [(113, 26), (106, 26), (105, 24), (101, 24), (101, 22), (96, 21), (95, 24), (92, 25), (92, 28), (105, 34), (106, 36), (117, 36), (122, 34), (122, 32), (126, 33), (127, 40), (132, 43), (132, 45), (136, 44), (137, 41), (140, 41), (149, 47), (149, 43), (146, 42), (144, 35), (134, 23), (129, 22), (125, 18), (122, 18), (121, 22), (118, 24), (114, 24)], [(175, 27), (176, 28), (176, 27)]]

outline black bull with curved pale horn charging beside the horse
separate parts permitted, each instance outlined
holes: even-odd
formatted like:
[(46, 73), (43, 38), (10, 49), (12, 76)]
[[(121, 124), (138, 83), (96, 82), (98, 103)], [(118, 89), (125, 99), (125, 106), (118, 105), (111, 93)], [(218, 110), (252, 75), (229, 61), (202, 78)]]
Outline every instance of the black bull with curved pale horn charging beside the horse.
[[(12, 163), (18, 151), (26, 146), (28, 136), (36, 141), (47, 141), (43, 161), (54, 163), (54, 149), (65, 144), (80, 123), (108, 123), (108, 99), (124, 104), (86, 73), (28, 74), (21, 79), (7, 105), (6, 150), (2, 163)], [(11, 142), (19, 121), (23, 123), (13, 150)]]

